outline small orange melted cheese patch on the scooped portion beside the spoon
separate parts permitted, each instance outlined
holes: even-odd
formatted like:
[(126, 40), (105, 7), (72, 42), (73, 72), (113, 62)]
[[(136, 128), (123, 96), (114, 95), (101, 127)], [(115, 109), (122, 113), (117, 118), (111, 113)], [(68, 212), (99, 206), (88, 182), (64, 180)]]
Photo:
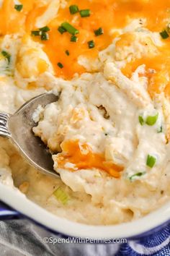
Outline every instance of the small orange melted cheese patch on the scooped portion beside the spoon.
[(73, 163), (75, 168), (68, 168), (71, 171), (97, 168), (115, 178), (119, 178), (120, 171), (123, 170), (122, 166), (106, 161), (104, 155), (94, 153), (89, 145), (81, 144), (79, 141), (68, 140), (61, 144), (61, 148), (63, 152), (55, 155), (53, 159), (57, 161), (58, 168), (66, 168), (66, 163)]

